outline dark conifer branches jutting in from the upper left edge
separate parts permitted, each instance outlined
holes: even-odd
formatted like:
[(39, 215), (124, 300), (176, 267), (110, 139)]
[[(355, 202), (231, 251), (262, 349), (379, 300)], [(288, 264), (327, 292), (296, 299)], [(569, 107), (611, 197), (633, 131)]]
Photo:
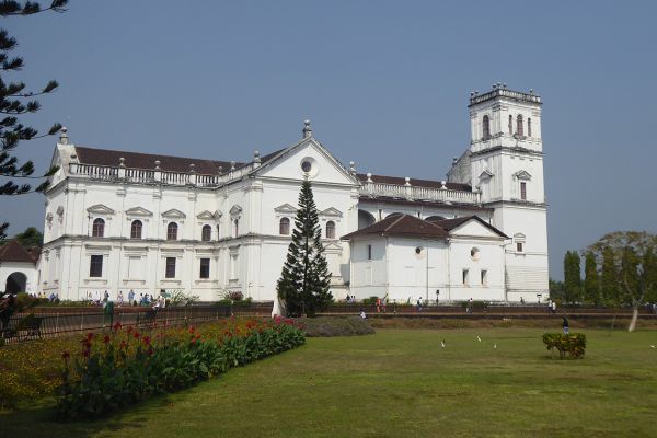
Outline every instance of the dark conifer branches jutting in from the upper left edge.
[[(53, 0), (50, 5), (42, 9), (38, 1), (13, 1), (0, 0), (0, 16), (12, 15), (32, 15), (42, 11), (64, 12), (68, 0)], [(38, 101), (34, 97), (48, 94), (58, 87), (56, 81), (49, 81), (41, 91), (30, 91), (25, 84), (20, 81), (7, 81), (7, 74), (20, 71), (23, 67), (23, 58), (10, 57), (11, 50), (18, 45), (14, 37), (10, 36), (7, 30), (0, 28), (0, 195), (22, 195), (30, 192), (44, 192), (48, 187), (48, 182), (42, 182), (33, 189), (31, 184), (18, 184), (12, 178), (37, 178), (43, 180), (57, 172), (57, 169), (50, 169), (41, 176), (34, 174), (34, 163), (26, 161), (20, 163), (18, 158), (12, 154), (21, 140), (33, 140), (44, 137), (30, 126), (23, 125), (19, 116), (36, 113), (41, 108)], [(61, 128), (61, 125), (55, 124), (45, 136), (51, 136)], [(7, 180), (5, 180), (7, 178)], [(0, 241), (7, 234), (9, 227), (7, 222), (0, 222)]]

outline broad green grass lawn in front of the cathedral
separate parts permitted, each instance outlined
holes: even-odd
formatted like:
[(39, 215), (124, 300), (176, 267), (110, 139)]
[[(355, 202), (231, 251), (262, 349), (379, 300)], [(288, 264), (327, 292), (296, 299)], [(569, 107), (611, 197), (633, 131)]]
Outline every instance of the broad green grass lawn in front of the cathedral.
[(0, 435), (657, 436), (657, 348), (650, 348), (657, 331), (586, 330), (583, 360), (551, 359), (542, 333), (379, 330), (310, 338), (296, 350), (99, 422), (54, 423), (49, 401), (0, 414)]

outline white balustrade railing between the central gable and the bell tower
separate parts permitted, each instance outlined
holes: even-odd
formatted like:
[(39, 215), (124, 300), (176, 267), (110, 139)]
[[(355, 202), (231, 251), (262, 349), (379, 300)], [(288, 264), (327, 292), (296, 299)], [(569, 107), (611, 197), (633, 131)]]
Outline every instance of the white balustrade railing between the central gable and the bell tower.
[(479, 193), (454, 191), (451, 188), (415, 187), (384, 183), (364, 183), (360, 195), (384, 196), (414, 200), (435, 200), (441, 203), (479, 204)]

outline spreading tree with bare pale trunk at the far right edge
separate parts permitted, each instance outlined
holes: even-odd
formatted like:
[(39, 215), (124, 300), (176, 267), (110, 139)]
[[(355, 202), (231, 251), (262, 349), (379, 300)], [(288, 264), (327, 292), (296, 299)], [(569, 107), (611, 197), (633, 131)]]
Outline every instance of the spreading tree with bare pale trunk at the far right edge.
[[(636, 328), (638, 307), (657, 296), (657, 235), (645, 231), (616, 231), (588, 247), (604, 265), (613, 257), (613, 281), (620, 302), (632, 306), (629, 332)], [(611, 266), (608, 267), (611, 269)]]

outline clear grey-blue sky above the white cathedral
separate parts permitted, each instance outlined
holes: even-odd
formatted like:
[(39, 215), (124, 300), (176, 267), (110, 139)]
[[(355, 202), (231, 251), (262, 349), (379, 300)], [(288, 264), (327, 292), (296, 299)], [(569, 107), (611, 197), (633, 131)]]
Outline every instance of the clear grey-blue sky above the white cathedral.
[[(286, 147), (310, 118), (361, 172), (443, 178), (469, 145), (468, 96), (543, 97), (551, 275), (566, 250), (657, 232), (657, 2), (76, 1), (3, 19), (34, 88), (25, 120), (71, 141), (221, 160)], [(19, 155), (43, 170), (54, 139)], [(0, 199), (10, 233), (44, 198)]]

